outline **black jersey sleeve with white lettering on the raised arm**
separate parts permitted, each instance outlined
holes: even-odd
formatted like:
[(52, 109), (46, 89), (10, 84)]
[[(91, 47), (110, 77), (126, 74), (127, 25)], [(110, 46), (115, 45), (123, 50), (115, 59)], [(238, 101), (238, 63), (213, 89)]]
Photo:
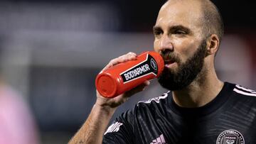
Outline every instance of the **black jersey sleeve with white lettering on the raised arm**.
[(107, 128), (102, 143), (133, 143), (134, 131), (132, 126), (132, 115), (130, 111), (122, 113), (122, 115), (119, 116), (119, 118), (116, 118), (115, 121)]

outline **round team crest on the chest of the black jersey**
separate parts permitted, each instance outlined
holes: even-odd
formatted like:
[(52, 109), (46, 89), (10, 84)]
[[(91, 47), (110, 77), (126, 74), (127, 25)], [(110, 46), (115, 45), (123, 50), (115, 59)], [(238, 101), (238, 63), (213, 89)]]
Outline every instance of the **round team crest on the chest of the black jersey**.
[(245, 144), (245, 139), (239, 131), (226, 130), (218, 135), (216, 144)]

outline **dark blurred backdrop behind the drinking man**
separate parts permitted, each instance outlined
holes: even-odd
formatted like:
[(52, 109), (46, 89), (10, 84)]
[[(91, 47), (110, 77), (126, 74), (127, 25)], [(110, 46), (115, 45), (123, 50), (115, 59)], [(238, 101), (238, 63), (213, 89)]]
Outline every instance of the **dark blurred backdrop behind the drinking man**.
[[(31, 144), (68, 143), (95, 102), (95, 77), (102, 67), (124, 53), (153, 50), (151, 30), (164, 2), (0, 1), (0, 86), (8, 87), (3, 90), (7, 93), (0, 89), (0, 94), (15, 95), (14, 101), (21, 101), (23, 107), (5, 102), (0, 95), (0, 120), (4, 113), (19, 121), (17, 126), (24, 127), (21, 133), (30, 133)], [(216, 60), (218, 75), (223, 81), (256, 89), (255, 3), (213, 2), (225, 23)], [(164, 92), (153, 80), (144, 92), (120, 106), (114, 117), (137, 101)], [(9, 109), (17, 114), (11, 117)]]

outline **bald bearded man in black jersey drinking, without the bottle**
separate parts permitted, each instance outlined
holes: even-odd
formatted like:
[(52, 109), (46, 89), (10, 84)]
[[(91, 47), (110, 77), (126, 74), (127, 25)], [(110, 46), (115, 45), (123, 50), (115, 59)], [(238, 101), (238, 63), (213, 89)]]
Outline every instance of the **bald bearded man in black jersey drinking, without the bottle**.
[[(159, 83), (171, 92), (139, 102), (109, 128), (117, 106), (149, 82), (114, 99), (97, 93), (90, 116), (70, 143), (256, 143), (256, 92), (221, 82), (215, 73), (223, 36), (215, 5), (208, 0), (166, 1), (154, 36), (154, 50), (165, 61)], [(136, 54), (129, 52), (105, 69), (134, 59)]]

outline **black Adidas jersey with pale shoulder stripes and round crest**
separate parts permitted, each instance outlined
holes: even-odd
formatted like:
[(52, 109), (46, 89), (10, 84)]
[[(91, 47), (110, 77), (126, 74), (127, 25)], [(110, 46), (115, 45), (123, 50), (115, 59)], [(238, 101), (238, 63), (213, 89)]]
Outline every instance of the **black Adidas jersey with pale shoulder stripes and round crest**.
[(181, 108), (171, 92), (139, 102), (107, 128), (103, 143), (255, 144), (256, 92), (225, 82), (199, 108)]

